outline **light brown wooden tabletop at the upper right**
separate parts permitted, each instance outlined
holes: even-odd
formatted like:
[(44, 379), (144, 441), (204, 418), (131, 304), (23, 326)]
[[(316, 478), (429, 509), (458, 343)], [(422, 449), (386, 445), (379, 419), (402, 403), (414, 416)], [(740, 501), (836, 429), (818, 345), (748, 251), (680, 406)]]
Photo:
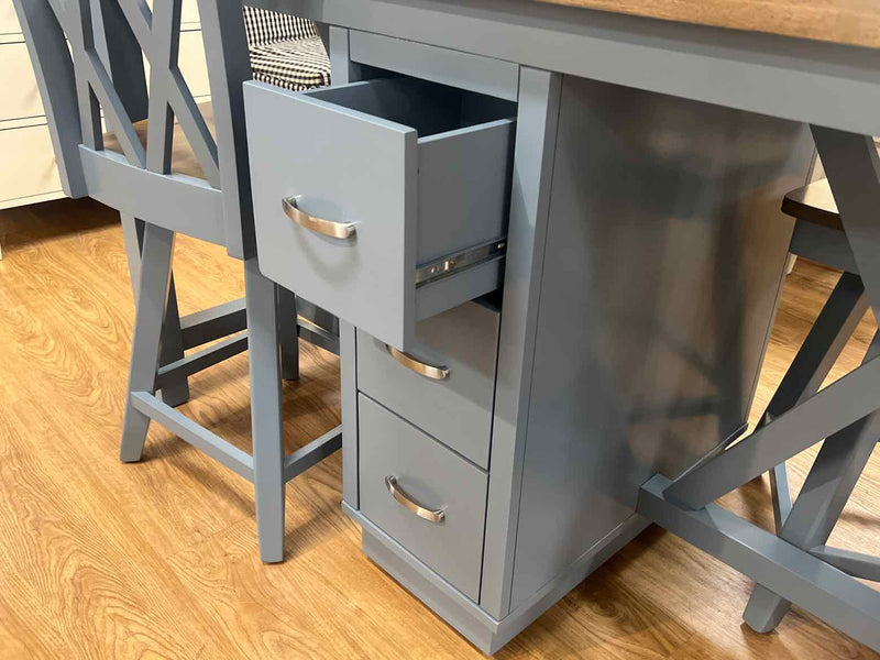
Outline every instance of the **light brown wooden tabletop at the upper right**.
[(880, 0), (541, 0), (880, 48)]

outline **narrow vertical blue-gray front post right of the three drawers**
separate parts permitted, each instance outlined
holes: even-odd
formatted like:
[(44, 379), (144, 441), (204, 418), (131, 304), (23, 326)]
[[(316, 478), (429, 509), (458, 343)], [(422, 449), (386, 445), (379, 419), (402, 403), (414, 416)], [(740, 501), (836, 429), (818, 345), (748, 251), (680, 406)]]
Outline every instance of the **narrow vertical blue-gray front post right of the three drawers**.
[(561, 76), (522, 67), (492, 422), (480, 606), (510, 610), (517, 507), (538, 321)]

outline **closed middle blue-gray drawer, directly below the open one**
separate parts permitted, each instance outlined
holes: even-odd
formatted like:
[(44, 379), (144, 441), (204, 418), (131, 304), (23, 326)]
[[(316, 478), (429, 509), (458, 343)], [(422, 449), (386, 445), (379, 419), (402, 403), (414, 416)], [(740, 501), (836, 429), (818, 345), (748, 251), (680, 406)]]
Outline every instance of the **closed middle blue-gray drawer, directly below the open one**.
[(465, 302), (419, 321), (400, 354), (358, 331), (358, 387), (482, 468), (488, 466), (499, 315)]

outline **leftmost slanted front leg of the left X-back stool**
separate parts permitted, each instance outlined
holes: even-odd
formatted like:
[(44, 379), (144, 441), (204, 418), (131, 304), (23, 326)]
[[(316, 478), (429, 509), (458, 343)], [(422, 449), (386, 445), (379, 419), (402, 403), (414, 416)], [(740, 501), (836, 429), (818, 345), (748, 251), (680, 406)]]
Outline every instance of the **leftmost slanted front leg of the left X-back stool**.
[(174, 232), (154, 224), (144, 228), (141, 275), (138, 282), (134, 337), (131, 348), (125, 418), (122, 424), (120, 459), (140, 461), (150, 417), (132, 405), (133, 392), (155, 391), (162, 328), (170, 288)]

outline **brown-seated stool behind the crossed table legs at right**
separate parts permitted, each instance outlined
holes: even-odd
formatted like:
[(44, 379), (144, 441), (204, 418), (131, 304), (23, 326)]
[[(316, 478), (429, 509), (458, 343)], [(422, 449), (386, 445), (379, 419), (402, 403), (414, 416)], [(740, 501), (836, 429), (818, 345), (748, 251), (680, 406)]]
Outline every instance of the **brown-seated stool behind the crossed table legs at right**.
[[(790, 251), (843, 274), (777, 388), (759, 428), (818, 391), (868, 309), (865, 285), (828, 180), (792, 190), (784, 197), (782, 211), (796, 220)], [(879, 338), (880, 332), (875, 334), (864, 362), (880, 354)], [(781, 538), (845, 573), (880, 581), (880, 558), (825, 544), (873, 446), (875, 439), (846, 433), (846, 429), (828, 438), (794, 505), (784, 463), (770, 472), (770, 482), (773, 518)], [(758, 584), (744, 618), (754, 629), (769, 631), (789, 607), (788, 601)]]

